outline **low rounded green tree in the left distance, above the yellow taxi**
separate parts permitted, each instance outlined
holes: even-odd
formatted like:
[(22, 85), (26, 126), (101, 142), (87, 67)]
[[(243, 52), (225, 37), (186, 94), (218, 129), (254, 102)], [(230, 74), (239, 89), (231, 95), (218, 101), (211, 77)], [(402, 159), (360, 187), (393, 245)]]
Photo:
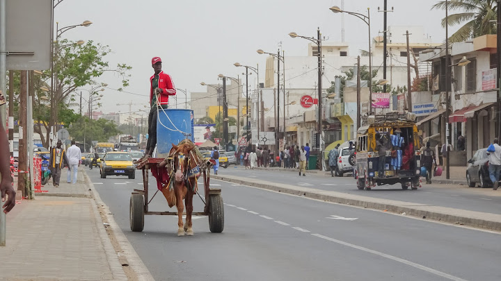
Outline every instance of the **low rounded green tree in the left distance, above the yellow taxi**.
[(85, 140), (86, 147), (90, 147), (92, 141), (108, 142), (110, 137), (122, 133), (114, 121), (102, 118), (94, 120), (84, 116), (73, 122), (72, 126), (68, 128), (68, 132), (77, 142)]

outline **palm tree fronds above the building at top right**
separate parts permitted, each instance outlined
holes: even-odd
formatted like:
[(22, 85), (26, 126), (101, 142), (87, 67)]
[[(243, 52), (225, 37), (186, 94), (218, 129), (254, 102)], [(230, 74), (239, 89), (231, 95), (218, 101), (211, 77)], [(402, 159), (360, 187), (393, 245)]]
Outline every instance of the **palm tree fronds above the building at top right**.
[[(463, 24), (449, 38), (451, 42), (461, 42), (474, 37), (496, 33), (497, 4), (495, 0), (450, 0), (449, 10), (461, 10), (462, 12), (449, 15), (449, 26)], [(445, 1), (439, 1), (432, 9), (445, 10)], [(490, 22), (493, 20), (494, 22)], [(442, 19), (445, 27), (445, 17)]]

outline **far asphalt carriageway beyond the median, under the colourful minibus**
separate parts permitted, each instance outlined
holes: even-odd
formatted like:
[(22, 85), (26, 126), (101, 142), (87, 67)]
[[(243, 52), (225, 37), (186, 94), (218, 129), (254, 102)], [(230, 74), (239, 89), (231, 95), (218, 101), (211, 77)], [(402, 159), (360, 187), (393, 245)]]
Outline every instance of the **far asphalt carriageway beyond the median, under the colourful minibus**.
[(259, 179), (269, 182), (279, 182), (287, 185), (300, 187), (310, 187), (315, 189), (339, 191), (349, 194), (372, 196), (397, 201), (406, 201), (426, 205), (436, 205), (443, 207), (453, 207), (476, 212), (488, 212), (501, 214), (501, 189), (481, 189), (479, 187), (456, 187), (447, 185), (427, 185), (424, 182), (417, 190), (403, 190), (400, 185), (383, 185), (372, 188), (371, 191), (358, 190), (356, 180), (351, 174), (342, 178), (330, 176), (317, 176), (307, 173), (306, 176), (299, 176), (299, 171), (278, 171), (262, 169), (245, 169), (242, 167), (219, 169), (218, 176), (231, 175), (248, 178), (249, 180)]

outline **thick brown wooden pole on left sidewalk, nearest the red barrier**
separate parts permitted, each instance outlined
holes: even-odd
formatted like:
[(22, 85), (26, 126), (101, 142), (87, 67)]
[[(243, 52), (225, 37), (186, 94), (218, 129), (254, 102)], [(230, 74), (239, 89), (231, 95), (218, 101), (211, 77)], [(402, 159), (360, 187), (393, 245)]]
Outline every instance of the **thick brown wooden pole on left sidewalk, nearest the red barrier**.
[(27, 136), (28, 131), (26, 112), (28, 107), (28, 87), (27, 87), (26, 70), (21, 71), (21, 91), (19, 92), (19, 175), (17, 176), (17, 190), (21, 191), (22, 196), (25, 196), (26, 179), (28, 171), (28, 146)]

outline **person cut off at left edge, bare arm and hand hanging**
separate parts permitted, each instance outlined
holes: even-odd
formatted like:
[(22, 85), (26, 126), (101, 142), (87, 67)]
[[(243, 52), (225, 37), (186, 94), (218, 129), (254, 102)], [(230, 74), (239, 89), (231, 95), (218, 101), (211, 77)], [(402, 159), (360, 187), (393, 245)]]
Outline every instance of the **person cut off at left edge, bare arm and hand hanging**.
[(3, 202), (3, 212), (6, 214), (15, 206), (15, 189), (13, 187), (13, 178), (10, 175), (9, 155), (7, 132), (3, 128), (0, 118), (0, 193), (1, 201)]

